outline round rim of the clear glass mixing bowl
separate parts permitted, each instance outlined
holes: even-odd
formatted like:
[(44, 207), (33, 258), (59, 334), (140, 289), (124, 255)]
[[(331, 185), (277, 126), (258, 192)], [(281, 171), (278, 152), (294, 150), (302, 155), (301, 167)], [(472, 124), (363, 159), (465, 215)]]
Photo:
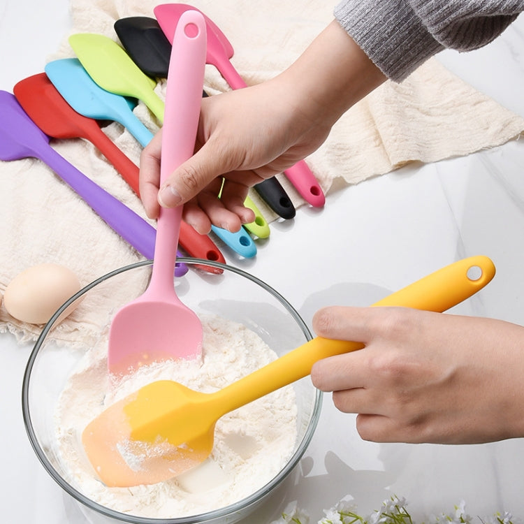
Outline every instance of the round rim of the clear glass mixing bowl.
[[(206, 259), (196, 259), (192, 257), (177, 257), (177, 262), (187, 263), (189, 265), (210, 265), (214, 268), (219, 268), (222, 270), (230, 271), (230, 272), (236, 273), (237, 275), (240, 275), (242, 277), (249, 279), (251, 282), (253, 282), (254, 284), (257, 284), (262, 289), (265, 289), (265, 291), (268, 291), (270, 295), (276, 298), (279, 301), (279, 303), (281, 303), (286, 308), (286, 310), (291, 314), (291, 316), (293, 316), (293, 319), (296, 321), (296, 323), (298, 323), (298, 326), (300, 327), (303, 334), (305, 335), (306, 340), (312, 339), (312, 333), (310, 332), (310, 329), (307, 327), (307, 324), (302, 319), (298, 311), (284, 298), (284, 296), (282, 296), (278, 291), (272, 288), (272, 286), (270, 286), (269, 284), (266, 284), (265, 282), (263, 282), (263, 280), (259, 279), (258, 277), (251, 275), (250, 273), (246, 272), (245, 270), (236, 268), (233, 265), (227, 265), (227, 264), (224, 264), (218, 261), (210, 261)], [(68, 300), (66, 300), (66, 302), (63, 305), (61, 305), (56, 312), (54, 312), (54, 314), (49, 319), (49, 321), (45, 323), (45, 326), (43, 327), (40, 335), (38, 335), (38, 338), (34, 344), (34, 347), (31, 350), (31, 354), (29, 355), (29, 359), (27, 361), (27, 365), (24, 371), (24, 377), (22, 381), (22, 415), (24, 419), (24, 427), (29, 437), (29, 442), (31, 443), (31, 446), (34, 449), (34, 452), (36, 453), (36, 456), (38, 460), (40, 460), (44, 469), (48, 472), (48, 474), (50, 474), (52, 479), (55, 482), (57, 482), (58, 485), (66, 493), (68, 493), (68, 495), (71, 495), (75, 500), (78, 500), (78, 502), (84, 504), (89, 509), (93, 509), (94, 511), (98, 512), (99, 514), (116, 519), (117, 521), (126, 522), (130, 524), (160, 524), (160, 523), (162, 524), (190, 524), (190, 522), (194, 524), (205, 523), (206, 521), (210, 521), (210, 520), (214, 520), (217, 518), (227, 516), (228, 514), (231, 514), (235, 511), (239, 511), (240, 509), (247, 509), (249, 506), (251, 506), (252, 504), (255, 504), (256, 502), (261, 500), (263, 497), (265, 497), (265, 495), (268, 495), (270, 491), (272, 491), (274, 488), (279, 486), (280, 483), (282, 483), (282, 481), (286, 478), (286, 476), (296, 467), (296, 465), (298, 464), (298, 461), (300, 460), (300, 458), (302, 458), (303, 454), (305, 453), (307, 449), (307, 446), (309, 446), (311, 439), (314, 435), (314, 431), (316, 430), (316, 425), (319, 422), (320, 412), (321, 412), (321, 403), (322, 403), (321, 391), (316, 390), (314, 408), (312, 410), (312, 416), (310, 419), (310, 423), (307, 425), (305, 435), (303, 436), (302, 440), (300, 441), (300, 444), (298, 445), (298, 448), (296, 449), (295, 453), (293, 453), (293, 456), (291, 456), (291, 458), (288, 460), (286, 465), (282, 468), (282, 470), (279, 471), (279, 473), (276, 476), (274, 476), (268, 483), (266, 483), (265, 486), (262, 486), (261, 488), (259, 488), (259, 490), (256, 490), (254, 493), (243, 498), (242, 500), (239, 500), (238, 502), (229, 504), (228, 506), (225, 506), (220, 509), (214, 509), (212, 511), (206, 511), (205, 513), (202, 513), (202, 514), (186, 516), (186, 517), (151, 518), (151, 517), (140, 517), (140, 516), (135, 516), (135, 515), (129, 515), (129, 514), (121, 513), (120, 511), (115, 511), (113, 509), (105, 507), (102, 504), (99, 504), (89, 499), (89, 497), (86, 497), (85, 495), (80, 493), (80, 491), (73, 488), (73, 486), (71, 486), (67, 481), (65, 481), (62, 478), (62, 476), (54, 469), (53, 465), (48, 460), (45, 454), (45, 451), (41, 449), (41, 446), (38, 443), (38, 437), (36, 437), (36, 432), (31, 422), (31, 414), (29, 410), (29, 400), (28, 400), (29, 379), (31, 378), (31, 370), (33, 369), (33, 365), (36, 361), (38, 352), (45, 340), (45, 337), (47, 336), (48, 332), (52, 328), (54, 322), (57, 321), (61, 313), (64, 312), (64, 310), (66, 310), (66, 308), (69, 305), (71, 305), (77, 298), (87, 293), (87, 291), (94, 288), (98, 284), (101, 284), (101, 282), (104, 282), (105, 280), (110, 279), (110, 277), (119, 275), (129, 270), (140, 268), (140, 267), (147, 266), (147, 265), (152, 265), (152, 263), (153, 261), (150, 259), (138, 261), (138, 262), (131, 263), (128, 265), (124, 265), (121, 268), (117, 268), (108, 273), (105, 273), (105, 275), (102, 275), (101, 277), (93, 280), (86, 286), (82, 287), (80, 291), (78, 291), (73, 296), (68, 298)], [(191, 521), (189, 521), (189, 519), (191, 519)]]

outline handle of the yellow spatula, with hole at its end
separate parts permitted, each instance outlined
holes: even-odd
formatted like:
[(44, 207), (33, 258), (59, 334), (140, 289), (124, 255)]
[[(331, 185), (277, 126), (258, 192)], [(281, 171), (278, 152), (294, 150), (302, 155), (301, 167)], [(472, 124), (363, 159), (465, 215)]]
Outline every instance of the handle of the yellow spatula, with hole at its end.
[[(470, 270), (480, 269), (477, 279), (470, 277)], [(396, 291), (374, 303), (374, 306), (412, 307), (419, 310), (443, 312), (472, 296), (486, 286), (495, 276), (495, 265), (487, 256), (472, 256), (447, 265), (430, 275)], [(306, 377), (312, 365), (328, 356), (356, 351), (364, 347), (361, 342), (329, 340), (315, 337), (310, 342), (293, 349), (276, 361), (211, 393), (222, 414), (252, 402), (263, 395)]]

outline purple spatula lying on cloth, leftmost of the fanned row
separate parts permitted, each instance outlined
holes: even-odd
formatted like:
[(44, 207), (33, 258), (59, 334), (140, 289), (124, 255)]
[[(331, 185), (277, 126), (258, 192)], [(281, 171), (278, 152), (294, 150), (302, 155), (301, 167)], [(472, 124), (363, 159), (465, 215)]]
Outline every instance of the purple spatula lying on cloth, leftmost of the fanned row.
[[(36, 158), (43, 161), (80, 195), (106, 224), (139, 253), (147, 259), (152, 259), (156, 236), (154, 227), (61, 157), (49, 145), (49, 137), (29, 118), (13, 94), (0, 91), (0, 114), (0, 160)], [(186, 272), (186, 265), (180, 264), (177, 267), (178, 275), (184, 275)]]

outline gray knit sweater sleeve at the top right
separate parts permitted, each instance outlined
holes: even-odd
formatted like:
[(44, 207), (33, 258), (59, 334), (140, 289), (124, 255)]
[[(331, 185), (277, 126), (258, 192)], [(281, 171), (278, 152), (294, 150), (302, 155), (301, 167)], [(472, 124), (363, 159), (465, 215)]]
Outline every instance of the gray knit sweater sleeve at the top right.
[(513, 22), (524, 0), (342, 0), (335, 18), (381, 71), (400, 82), (451, 48), (480, 48)]

